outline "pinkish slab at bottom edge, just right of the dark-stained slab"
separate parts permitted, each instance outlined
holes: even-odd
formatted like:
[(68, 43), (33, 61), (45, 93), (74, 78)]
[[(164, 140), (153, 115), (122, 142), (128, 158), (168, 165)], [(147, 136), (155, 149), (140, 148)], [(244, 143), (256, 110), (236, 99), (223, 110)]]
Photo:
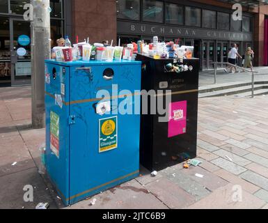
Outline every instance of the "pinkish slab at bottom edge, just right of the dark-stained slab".
[(159, 178), (145, 187), (171, 209), (185, 208), (196, 201), (193, 196), (167, 178)]

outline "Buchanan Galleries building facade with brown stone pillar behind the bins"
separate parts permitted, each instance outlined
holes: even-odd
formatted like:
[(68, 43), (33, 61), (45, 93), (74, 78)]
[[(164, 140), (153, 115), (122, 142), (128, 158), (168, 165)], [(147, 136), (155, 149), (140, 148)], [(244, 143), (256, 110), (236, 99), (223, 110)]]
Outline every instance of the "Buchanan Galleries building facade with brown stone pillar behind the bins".
[(226, 62), (228, 49), (237, 43), (240, 54), (246, 47), (254, 49), (254, 66), (267, 66), (268, 6), (241, 2), (242, 20), (235, 21), (232, 0), (75, 0), (72, 33), (89, 36), (92, 42), (120, 38), (123, 44), (150, 42), (153, 36), (179, 39), (181, 45), (194, 46), (203, 70), (212, 68), (214, 61)]

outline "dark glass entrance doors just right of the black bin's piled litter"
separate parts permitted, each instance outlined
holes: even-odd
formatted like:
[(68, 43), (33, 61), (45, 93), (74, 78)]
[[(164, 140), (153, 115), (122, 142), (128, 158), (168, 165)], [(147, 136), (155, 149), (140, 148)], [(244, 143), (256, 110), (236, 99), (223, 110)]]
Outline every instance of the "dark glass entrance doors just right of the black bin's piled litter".
[(213, 69), (214, 65), (214, 49), (215, 43), (213, 41), (203, 41), (203, 70)]

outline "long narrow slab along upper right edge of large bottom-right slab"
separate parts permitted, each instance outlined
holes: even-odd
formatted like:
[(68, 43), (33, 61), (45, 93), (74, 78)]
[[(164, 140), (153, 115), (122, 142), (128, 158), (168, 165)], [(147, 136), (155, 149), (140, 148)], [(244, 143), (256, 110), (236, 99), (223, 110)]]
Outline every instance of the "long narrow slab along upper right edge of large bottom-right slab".
[(215, 171), (214, 174), (223, 178), (224, 180), (227, 180), (233, 185), (240, 185), (243, 190), (246, 190), (247, 192), (251, 194), (260, 190), (260, 187), (253, 185), (252, 183), (249, 183), (248, 181), (243, 180), (242, 178), (239, 178), (238, 176), (235, 176), (234, 174), (230, 174), (228, 171), (224, 169), (219, 169), (218, 171)]

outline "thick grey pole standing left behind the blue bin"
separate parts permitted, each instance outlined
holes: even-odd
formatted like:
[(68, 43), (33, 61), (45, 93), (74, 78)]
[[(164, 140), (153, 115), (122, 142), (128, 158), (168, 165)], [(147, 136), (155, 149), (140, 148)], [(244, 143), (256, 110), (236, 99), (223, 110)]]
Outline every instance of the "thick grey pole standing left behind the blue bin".
[(31, 97), (33, 128), (45, 128), (45, 59), (51, 56), (49, 0), (31, 0)]

